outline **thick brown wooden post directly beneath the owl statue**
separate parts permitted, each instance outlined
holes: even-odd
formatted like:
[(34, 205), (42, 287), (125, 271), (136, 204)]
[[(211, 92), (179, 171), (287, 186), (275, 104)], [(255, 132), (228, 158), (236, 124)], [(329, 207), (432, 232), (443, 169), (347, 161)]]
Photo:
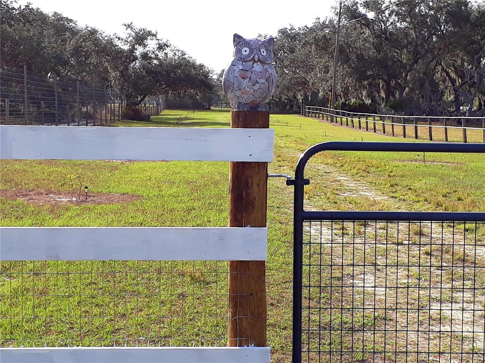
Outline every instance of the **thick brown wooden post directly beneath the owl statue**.
[[(231, 128), (266, 129), (269, 125), (268, 111), (231, 110)], [(268, 163), (230, 163), (229, 227), (266, 227), (267, 181)], [(265, 347), (265, 261), (229, 261), (228, 267), (227, 346)]]

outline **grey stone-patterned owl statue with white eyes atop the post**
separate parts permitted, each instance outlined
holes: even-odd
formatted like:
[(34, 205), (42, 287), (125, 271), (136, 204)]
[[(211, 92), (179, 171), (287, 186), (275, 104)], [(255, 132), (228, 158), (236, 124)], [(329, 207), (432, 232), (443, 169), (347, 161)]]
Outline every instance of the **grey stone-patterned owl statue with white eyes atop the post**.
[(268, 111), (275, 93), (273, 61), (275, 39), (245, 39), (234, 34), (234, 60), (224, 72), (222, 89), (231, 106), (242, 111)]

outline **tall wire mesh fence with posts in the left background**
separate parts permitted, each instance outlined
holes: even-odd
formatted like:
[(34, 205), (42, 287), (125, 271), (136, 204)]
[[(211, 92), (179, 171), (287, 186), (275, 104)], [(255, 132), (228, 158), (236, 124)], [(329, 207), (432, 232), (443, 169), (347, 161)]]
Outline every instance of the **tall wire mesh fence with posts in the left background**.
[[(26, 68), (0, 69), (0, 122), (21, 125), (103, 125), (120, 120), (123, 95), (109, 85), (43, 75)], [(139, 106), (146, 114), (162, 110), (159, 96)]]

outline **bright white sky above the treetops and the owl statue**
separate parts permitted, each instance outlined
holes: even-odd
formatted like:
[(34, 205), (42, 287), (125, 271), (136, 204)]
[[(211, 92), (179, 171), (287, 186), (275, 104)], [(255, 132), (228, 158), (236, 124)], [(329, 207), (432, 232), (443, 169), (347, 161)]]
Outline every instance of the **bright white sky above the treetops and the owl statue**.
[[(157, 30), (159, 37), (197, 61), (220, 71), (232, 59), (232, 34), (275, 35), (289, 24), (310, 25), (330, 15), (334, 0), (30, 0), (45, 12), (57, 11), (107, 33), (122, 33), (122, 23)], [(19, 4), (27, 1), (20, 0)], [(254, 10), (252, 10), (254, 9)]]

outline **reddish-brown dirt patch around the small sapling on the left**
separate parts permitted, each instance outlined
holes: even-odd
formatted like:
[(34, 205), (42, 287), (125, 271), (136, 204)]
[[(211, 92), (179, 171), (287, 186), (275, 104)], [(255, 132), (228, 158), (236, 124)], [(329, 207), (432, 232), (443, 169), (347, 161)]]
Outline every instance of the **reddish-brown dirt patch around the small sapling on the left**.
[(0, 197), (9, 200), (23, 200), (29, 204), (119, 204), (130, 203), (141, 199), (134, 194), (115, 194), (115, 193), (88, 193), (85, 199), (84, 191), (78, 199), (78, 193), (74, 195), (70, 192), (26, 190), (26, 189), (1, 189)]

